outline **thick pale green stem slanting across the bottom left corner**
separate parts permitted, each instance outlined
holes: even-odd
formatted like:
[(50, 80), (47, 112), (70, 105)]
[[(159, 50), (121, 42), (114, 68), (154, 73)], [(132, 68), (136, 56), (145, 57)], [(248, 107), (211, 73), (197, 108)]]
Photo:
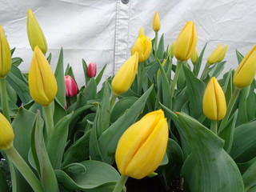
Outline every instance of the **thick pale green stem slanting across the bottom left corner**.
[(14, 146), (11, 146), (8, 150), (5, 150), (5, 152), (33, 190), (35, 192), (43, 192), (41, 182), (39, 182), (34, 172), (30, 169), (30, 166), (28, 166), (22, 156), (18, 154), (18, 151), (14, 148)]

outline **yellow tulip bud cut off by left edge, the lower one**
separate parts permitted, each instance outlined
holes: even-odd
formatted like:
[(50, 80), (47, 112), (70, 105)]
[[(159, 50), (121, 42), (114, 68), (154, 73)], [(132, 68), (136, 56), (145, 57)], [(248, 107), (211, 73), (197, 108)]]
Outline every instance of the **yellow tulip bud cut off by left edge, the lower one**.
[(14, 130), (10, 122), (0, 113), (0, 150), (7, 150), (13, 145)]

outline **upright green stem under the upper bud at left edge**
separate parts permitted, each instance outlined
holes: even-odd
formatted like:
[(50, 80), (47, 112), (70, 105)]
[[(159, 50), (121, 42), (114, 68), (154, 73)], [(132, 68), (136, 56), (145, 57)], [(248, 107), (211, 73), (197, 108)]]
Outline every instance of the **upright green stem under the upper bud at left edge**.
[(2, 113), (10, 122), (8, 96), (6, 90), (6, 78), (0, 78), (0, 91), (1, 91), (1, 102), (2, 102)]

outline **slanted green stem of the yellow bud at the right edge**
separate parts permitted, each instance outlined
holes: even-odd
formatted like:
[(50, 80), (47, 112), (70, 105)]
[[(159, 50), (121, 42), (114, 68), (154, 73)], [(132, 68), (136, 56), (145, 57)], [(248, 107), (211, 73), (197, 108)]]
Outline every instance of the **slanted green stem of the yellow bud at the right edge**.
[(238, 90), (238, 89), (234, 90), (234, 93), (232, 94), (232, 96), (230, 98), (230, 102), (229, 102), (229, 104), (226, 107), (226, 115), (222, 119), (222, 122), (221, 122), (221, 124), (220, 124), (220, 126), (218, 128), (218, 134), (225, 128), (226, 122), (230, 118), (231, 111), (232, 111), (232, 109), (234, 107), (234, 103), (237, 100), (239, 93), (240, 93), (240, 90)]

